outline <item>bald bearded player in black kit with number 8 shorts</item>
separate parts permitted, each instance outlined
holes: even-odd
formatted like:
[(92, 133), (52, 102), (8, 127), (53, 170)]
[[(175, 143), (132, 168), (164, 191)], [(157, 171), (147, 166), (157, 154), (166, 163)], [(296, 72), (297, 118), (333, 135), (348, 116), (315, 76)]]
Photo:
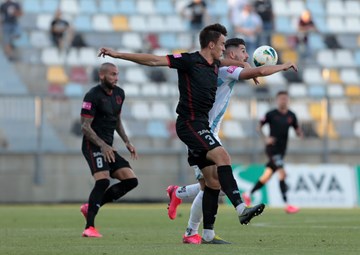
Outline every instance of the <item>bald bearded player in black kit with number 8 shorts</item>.
[[(112, 147), (116, 131), (131, 153), (131, 158), (138, 157), (120, 118), (125, 93), (116, 85), (118, 75), (117, 66), (112, 63), (102, 64), (99, 70), (100, 84), (86, 93), (82, 103), (82, 152), (95, 179), (88, 203), (80, 208), (86, 218), (86, 227), (82, 233), (84, 237), (101, 237), (94, 225), (99, 208), (119, 199), (138, 185), (129, 162)], [(110, 178), (120, 182), (109, 187)]]

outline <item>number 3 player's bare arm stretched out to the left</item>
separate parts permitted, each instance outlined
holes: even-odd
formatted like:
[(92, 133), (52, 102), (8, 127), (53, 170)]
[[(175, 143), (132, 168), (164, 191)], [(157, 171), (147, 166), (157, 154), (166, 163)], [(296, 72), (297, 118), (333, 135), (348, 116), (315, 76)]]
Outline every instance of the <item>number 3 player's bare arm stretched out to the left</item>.
[(146, 66), (168, 66), (168, 60), (166, 56), (157, 56), (147, 53), (117, 52), (113, 49), (104, 47), (100, 49), (98, 57), (105, 57), (105, 56), (128, 60)]

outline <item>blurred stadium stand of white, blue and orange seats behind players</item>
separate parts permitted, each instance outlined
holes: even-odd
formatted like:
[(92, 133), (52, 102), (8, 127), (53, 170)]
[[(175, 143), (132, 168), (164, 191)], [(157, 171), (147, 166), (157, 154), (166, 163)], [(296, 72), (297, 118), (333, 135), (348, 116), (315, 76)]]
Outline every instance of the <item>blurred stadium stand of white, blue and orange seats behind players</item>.
[[(0, 81), (1, 93), (49, 93), (65, 98), (75, 97), (78, 103), (73, 111), (78, 113), (80, 98), (93, 85), (90, 78), (92, 70), (104, 61), (111, 61), (120, 67), (119, 80), (130, 104), (126, 123), (132, 136), (148, 134), (154, 139), (168, 139), (171, 136), (167, 123), (175, 118), (174, 102), (178, 96), (176, 72), (166, 70), (167, 81), (154, 84), (150, 82), (146, 68), (126, 61), (98, 59), (96, 53), (101, 46), (127, 52), (152, 50), (158, 54), (193, 50), (194, 45), (197, 49), (196, 35), (189, 32), (188, 21), (179, 15), (187, 1), (23, 0), (22, 3), (23, 34), (16, 42), (20, 61), (11, 64), (1, 56), (2, 70), (12, 74)], [(212, 22), (229, 24), (226, 0), (209, 0), (207, 3)], [(359, 136), (360, 116), (359, 111), (355, 110), (358, 105), (354, 103), (354, 99), (360, 95), (359, 1), (276, 0), (273, 6), (275, 28), (271, 44), (281, 56), (281, 61), (299, 63), (299, 81), (289, 81), (283, 73), (278, 73), (260, 79), (266, 85), (266, 90), (251, 86), (250, 82), (241, 82), (241, 86), (234, 90), (237, 98), (230, 103), (225, 117), (223, 139), (245, 138), (251, 127), (251, 122), (249, 124), (247, 121), (260, 118), (272, 106), (272, 100), (268, 97), (274, 96), (279, 89), (289, 90), (300, 121), (316, 124), (320, 137), (324, 136), (324, 127), (319, 124), (324, 116), (318, 112), (322, 109), (318, 100), (322, 99), (334, 104), (329, 112), (330, 137)], [(52, 47), (48, 30), (58, 7), (73, 29), (84, 36), (87, 47), (69, 48), (65, 52)], [(308, 44), (313, 54), (303, 62), (296, 48), (295, 37), (297, 19), (305, 8), (312, 12), (318, 32), (309, 34)], [(158, 40), (159, 48), (148, 48), (150, 33), (154, 35), (152, 38)], [(338, 45), (332, 47), (329, 38)], [(30, 75), (28, 70), (33, 70), (33, 74)], [(16, 71), (20, 78), (15, 75)], [(255, 100), (260, 96), (267, 101)], [(344, 99), (344, 103), (333, 101), (339, 98)], [(154, 99), (156, 103), (153, 103)], [(252, 100), (255, 100), (255, 104)], [(66, 103), (66, 100), (62, 102)], [(61, 105), (61, 101), (57, 104)], [(57, 109), (56, 114), (62, 113), (61, 107), (54, 109)], [(139, 127), (136, 121), (142, 121), (144, 125)], [(69, 131), (70, 123), (65, 127), (57, 124), (51, 120), (46, 125), (54, 126), (54, 134), (58, 133), (64, 139), (63, 133)], [(230, 130), (234, 130), (233, 134)]]

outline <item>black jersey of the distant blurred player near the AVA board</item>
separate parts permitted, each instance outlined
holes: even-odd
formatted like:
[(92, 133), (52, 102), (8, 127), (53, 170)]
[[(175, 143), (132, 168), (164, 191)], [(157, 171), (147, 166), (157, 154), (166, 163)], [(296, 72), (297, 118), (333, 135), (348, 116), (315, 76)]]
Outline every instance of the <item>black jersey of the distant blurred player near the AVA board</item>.
[(270, 136), (275, 137), (275, 146), (279, 150), (285, 150), (288, 140), (289, 128), (298, 128), (299, 124), (295, 113), (288, 110), (287, 113), (281, 113), (278, 109), (271, 110), (266, 113), (265, 117), (260, 121), (261, 125), (266, 123), (270, 126)]

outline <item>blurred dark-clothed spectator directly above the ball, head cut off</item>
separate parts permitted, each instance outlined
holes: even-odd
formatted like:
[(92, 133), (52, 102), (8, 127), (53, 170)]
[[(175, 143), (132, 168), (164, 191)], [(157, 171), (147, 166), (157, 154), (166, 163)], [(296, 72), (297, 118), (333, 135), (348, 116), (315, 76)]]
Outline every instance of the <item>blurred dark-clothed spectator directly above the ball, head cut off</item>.
[(254, 8), (263, 22), (263, 32), (260, 35), (258, 45), (270, 45), (270, 35), (274, 28), (274, 15), (271, 0), (256, 0)]

